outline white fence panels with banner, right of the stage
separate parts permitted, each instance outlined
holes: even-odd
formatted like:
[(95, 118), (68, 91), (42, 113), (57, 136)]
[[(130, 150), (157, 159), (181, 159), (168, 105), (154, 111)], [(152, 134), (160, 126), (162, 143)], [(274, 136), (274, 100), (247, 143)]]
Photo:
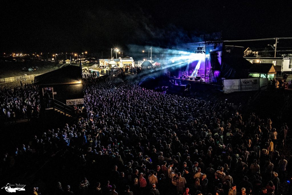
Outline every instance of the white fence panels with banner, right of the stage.
[(228, 94), (232, 92), (257, 91), (267, 89), (267, 84), (267, 78), (223, 80), (223, 92)]

